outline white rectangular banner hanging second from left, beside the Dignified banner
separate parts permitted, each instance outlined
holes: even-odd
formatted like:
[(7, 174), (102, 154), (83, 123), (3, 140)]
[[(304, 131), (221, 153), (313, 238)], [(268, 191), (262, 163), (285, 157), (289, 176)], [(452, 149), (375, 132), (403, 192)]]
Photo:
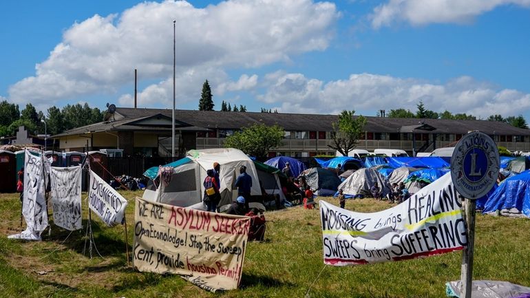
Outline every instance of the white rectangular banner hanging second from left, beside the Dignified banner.
[(81, 166), (52, 167), (52, 210), (54, 223), (69, 231), (81, 226)]

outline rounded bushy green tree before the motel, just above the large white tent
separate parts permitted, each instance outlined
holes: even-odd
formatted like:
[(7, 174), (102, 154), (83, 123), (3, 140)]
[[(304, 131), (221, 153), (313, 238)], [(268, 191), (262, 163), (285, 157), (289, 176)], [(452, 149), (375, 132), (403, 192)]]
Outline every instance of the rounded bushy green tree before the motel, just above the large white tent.
[(240, 149), (249, 156), (265, 158), (269, 150), (282, 145), (283, 138), (282, 127), (255, 123), (227, 137), (224, 140), (224, 147)]

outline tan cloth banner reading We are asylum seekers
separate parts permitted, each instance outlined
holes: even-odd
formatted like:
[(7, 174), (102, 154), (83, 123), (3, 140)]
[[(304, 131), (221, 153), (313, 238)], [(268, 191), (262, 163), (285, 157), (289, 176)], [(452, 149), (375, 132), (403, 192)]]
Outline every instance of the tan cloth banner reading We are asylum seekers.
[(136, 198), (134, 267), (174, 273), (215, 292), (240, 284), (250, 217)]

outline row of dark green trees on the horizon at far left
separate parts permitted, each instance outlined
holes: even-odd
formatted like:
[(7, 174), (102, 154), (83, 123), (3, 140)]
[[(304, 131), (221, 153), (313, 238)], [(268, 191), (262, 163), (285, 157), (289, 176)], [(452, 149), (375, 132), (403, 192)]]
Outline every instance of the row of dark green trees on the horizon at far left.
[(24, 126), (32, 135), (46, 132), (53, 136), (69, 129), (101, 122), (105, 114), (97, 107), (89, 107), (87, 103), (65, 105), (62, 109), (52, 106), (45, 113), (36, 111), (31, 103), (20, 111), (19, 105), (3, 100), (0, 102), (0, 136), (14, 136), (19, 126)]

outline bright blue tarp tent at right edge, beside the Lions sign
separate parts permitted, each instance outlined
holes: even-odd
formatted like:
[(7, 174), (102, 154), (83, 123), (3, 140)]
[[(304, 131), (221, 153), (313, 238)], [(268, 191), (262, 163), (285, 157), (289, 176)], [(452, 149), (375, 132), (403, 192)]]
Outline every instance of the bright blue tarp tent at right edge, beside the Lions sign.
[(530, 217), (530, 170), (502, 182), (486, 202), (483, 212), (512, 208)]

